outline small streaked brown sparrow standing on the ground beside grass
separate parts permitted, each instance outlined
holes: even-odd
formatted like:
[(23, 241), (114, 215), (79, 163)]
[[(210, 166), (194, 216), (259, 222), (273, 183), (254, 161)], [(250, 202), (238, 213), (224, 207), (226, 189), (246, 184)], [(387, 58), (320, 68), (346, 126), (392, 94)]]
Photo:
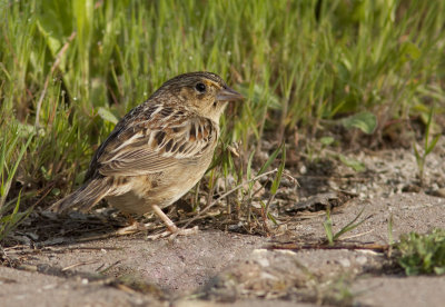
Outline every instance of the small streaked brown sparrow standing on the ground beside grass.
[(86, 212), (106, 199), (127, 216), (154, 211), (170, 234), (178, 232), (162, 209), (202, 178), (218, 142), (221, 115), (230, 101), (243, 99), (212, 72), (166, 81), (116, 125), (92, 156), (83, 185), (50, 209)]

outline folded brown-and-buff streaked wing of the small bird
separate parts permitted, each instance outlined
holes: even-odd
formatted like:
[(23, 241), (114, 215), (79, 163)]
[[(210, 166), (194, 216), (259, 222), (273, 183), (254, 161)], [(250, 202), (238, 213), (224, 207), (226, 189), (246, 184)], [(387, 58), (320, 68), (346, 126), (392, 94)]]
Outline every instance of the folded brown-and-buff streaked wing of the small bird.
[(212, 149), (218, 133), (210, 119), (162, 107), (148, 119), (138, 117), (117, 128), (93, 158), (93, 171), (102, 176), (147, 175), (195, 164)]

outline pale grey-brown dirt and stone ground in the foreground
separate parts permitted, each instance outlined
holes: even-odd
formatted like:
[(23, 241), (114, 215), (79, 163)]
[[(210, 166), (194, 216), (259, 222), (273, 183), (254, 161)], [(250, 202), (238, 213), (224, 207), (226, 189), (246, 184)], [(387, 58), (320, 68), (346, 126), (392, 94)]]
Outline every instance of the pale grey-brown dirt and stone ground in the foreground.
[[(415, 160), (405, 150), (355, 156), (367, 172), (354, 178), (366, 180), (319, 182), (318, 199), (345, 188), (357, 195), (333, 211), (335, 231), (363, 210), (365, 221), (340, 244), (374, 249), (316, 248), (326, 238), (325, 212), (299, 210), (314, 206), (314, 198), (288, 201), (269, 237), (237, 234), (236, 227), (225, 231), (210, 222), (172, 240), (147, 240), (142, 232), (107, 237), (108, 230), (95, 238), (83, 236), (95, 232), (86, 225), (103, 221), (88, 217), (63, 221), (63, 234), (51, 237), (30, 221), (14, 234), (20, 244), (0, 250), (1, 305), (443, 306), (445, 276), (405, 277), (378, 247), (389, 241), (389, 218), (394, 239), (444, 228), (444, 148), (441, 143), (427, 164), (427, 188), (416, 192)], [(310, 176), (305, 180), (307, 170), (296, 171), (301, 188), (317, 185)], [(337, 166), (335, 174), (348, 178), (348, 171)], [(52, 227), (55, 217), (39, 216)]]

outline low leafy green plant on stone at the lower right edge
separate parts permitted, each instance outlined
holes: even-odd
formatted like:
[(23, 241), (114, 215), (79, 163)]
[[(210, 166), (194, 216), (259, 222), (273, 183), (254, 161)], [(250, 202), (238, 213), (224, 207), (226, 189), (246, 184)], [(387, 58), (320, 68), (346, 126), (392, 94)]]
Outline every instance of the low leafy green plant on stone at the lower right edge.
[(396, 248), (400, 251), (397, 263), (406, 275), (445, 274), (445, 229), (403, 235)]

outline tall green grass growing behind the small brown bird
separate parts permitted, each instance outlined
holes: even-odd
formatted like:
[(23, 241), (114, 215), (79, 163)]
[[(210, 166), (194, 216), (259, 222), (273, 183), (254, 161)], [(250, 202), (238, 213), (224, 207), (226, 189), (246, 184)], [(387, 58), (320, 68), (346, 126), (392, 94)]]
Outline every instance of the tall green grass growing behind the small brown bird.
[[(408, 130), (433, 101), (445, 109), (443, 1), (0, 0), (0, 139), (20, 127), (20, 146), (7, 148), (17, 156), (33, 135), (8, 201), (67, 194), (113, 117), (186, 71), (245, 93), (221, 142), (240, 141), (246, 161), (265, 132), (312, 138), (364, 113), (380, 137)], [(240, 182), (227, 166), (215, 176)]]

